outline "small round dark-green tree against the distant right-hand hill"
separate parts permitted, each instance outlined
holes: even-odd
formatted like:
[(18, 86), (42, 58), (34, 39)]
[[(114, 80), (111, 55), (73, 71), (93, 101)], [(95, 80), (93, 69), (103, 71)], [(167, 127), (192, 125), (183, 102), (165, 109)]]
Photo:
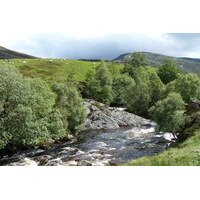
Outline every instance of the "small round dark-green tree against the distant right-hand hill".
[(165, 64), (158, 69), (158, 76), (164, 84), (167, 84), (178, 77), (181, 70), (177, 68), (175, 63), (170, 58), (166, 58)]

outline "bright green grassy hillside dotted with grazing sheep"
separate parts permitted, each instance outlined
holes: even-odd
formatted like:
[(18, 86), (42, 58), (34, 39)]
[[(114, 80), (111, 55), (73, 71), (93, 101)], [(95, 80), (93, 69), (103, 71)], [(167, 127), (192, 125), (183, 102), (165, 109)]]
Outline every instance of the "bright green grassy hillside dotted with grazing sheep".
[[(75, 73), (76, 81), (83, 81), (86, 73), (99, 64), (70, 59), (12, 59), (0, 60), (0, 63), (16, 66), (24, 76), (40, 77), (47, 83), (64, 82), (71, 71)], [(123, 68), (123, 65), (116, 66)]]

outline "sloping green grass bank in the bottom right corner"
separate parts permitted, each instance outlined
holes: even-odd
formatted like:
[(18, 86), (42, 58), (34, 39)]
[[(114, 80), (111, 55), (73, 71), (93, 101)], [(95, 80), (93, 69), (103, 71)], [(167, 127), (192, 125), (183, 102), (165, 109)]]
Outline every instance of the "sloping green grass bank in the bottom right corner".
[(163, 153), (132, 160), (128, 166), (200, 166), (200, 131), (176, 148)]

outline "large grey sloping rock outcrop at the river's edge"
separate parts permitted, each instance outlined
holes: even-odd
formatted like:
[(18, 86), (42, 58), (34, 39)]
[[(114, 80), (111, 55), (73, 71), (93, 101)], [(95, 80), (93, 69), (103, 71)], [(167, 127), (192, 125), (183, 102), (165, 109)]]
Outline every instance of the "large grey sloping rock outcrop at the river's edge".
[(150, 123), (149, 120), (128, 113), (124, 109), (109, 107), (97, 101), (86, 99), (87, 119), (86, 130), (117, 129), (125, 126), (143, 126)]

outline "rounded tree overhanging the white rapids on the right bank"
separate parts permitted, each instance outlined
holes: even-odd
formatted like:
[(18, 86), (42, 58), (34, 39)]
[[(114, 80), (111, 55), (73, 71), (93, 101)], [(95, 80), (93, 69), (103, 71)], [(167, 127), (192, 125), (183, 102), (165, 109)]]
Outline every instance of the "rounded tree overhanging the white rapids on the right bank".
[(159, 130), (176, 133), (185, 122), (184, 107), (185, 103), (180, 94), (170, 93), (151, 107), (149, 112), (158, 123)]

